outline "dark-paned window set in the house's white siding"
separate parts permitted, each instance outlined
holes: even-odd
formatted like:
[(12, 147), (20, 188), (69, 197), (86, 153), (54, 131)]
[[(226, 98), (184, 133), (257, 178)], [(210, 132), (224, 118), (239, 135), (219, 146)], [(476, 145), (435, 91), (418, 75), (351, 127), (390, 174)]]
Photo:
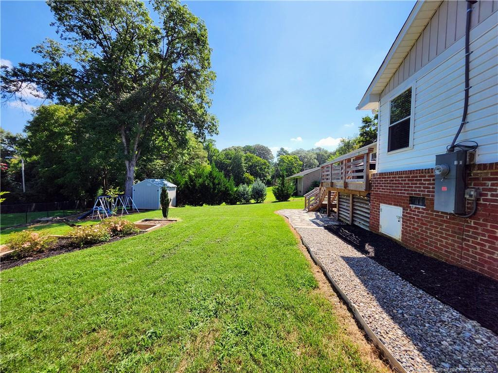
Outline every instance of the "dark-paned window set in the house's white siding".
[(411, 87), (390, 102), (387, 151), (410, 146)]

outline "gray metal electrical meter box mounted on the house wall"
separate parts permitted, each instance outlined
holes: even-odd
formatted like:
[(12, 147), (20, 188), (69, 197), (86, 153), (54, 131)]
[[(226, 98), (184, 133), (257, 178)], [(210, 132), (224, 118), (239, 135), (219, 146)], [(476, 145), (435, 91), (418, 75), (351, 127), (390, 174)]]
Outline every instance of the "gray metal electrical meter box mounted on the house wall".
[(462, 214), (465, 212), (465, 165), (467, 152), (436, 156), (434, 210)]

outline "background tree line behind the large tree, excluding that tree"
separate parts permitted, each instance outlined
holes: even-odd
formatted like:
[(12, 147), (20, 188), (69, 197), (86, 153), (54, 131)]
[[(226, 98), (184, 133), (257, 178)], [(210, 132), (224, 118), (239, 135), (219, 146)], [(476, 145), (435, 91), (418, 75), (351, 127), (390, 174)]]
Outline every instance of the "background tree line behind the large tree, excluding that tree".
[[(119, 151), (110, 151), (105, 138), (88, 136), (82, 130), (82, 118), (68, 105), (42, 105), (28, 121), (24, 135), (1, 129), (0, 153), (5, 167), (0, 171), (0, 187), (10, 191), (8, 203), (94, 198), (124, 185)], [(334, 152), (323, 148), (288, 152), (281, 148), (276, 157), (261, 144), (219, 150), (213, 139), (201, 141), (189, 132), (184, 144), (173, 139), (150, 144), (137, 162), (134, 181), (167, 179), (181, 189), (215, 169), (225, 179), (223, 183), (233, 183), (234, 187), (252, 185), (256, 180), (274, 185), (281, 176), (318, 167), (374, 142), (376, 115), (365, 116), (362, 122), (360, 134), (342, 139)], [(6, 158), (17, 156), (26, 161), (24, 196), (20, 161)]]

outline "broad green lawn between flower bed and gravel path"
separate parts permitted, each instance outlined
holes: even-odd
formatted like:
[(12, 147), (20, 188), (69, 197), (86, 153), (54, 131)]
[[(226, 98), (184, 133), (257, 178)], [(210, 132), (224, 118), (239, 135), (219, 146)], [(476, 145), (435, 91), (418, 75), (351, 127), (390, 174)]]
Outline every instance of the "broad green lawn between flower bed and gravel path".
[(159, 230), (3, 271), (2, 372), (374, 371), (281, 208), (302, 198), (173, 208)]

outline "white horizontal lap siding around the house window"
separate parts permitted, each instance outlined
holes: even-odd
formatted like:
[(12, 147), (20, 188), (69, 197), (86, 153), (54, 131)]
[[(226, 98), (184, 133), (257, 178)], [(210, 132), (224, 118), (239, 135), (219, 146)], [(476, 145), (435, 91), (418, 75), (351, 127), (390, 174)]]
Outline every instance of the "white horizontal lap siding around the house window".
[[(483, 2), (483, 1), (480, 1)], [(496, 6), (496, 5), (495, 5)], [(465, 23), (465, 22), (464, 22)], [(498, 162), (498, 13), (471, 30), (467, 121), (458, 141), (479, 143), (477, 163)], [(464, 106), (465, 38), (454, 42), (380, 99), (377, 172), (434, 167), (460, 126)], [(412, 87), (410, 147), (387, 153), (389, 101)]]

